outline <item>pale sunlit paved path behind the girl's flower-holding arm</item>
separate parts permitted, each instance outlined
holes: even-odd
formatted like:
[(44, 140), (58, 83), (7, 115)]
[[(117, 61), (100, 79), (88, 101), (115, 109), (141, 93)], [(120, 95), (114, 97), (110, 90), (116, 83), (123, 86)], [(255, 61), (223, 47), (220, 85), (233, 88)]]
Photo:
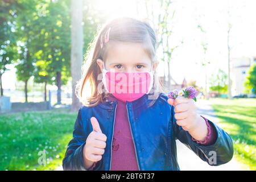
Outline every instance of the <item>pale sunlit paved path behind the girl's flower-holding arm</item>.
[[(205, 118), (210, 121), (217, 123), (221, 127), (218, 118), (214, 114), (212, 106), (210, 106), (209, 101), (199, 100), (196, 102), (198, 113), (203, 115)], [(237, 160), (233, 159), (226, 164), (221, 166), (209, 166), (208, 163), (201, 160), (195, 153), (193, 153), (189, 148), (187, 148), (183, 143), (176, 140), (177, 143), (177, 159), (180, 166), (180, 170), (204, 170), (204, 171), (213, 171), (213, 170), (245, 170), (246, 167), (241, 163), (238, 163)]]

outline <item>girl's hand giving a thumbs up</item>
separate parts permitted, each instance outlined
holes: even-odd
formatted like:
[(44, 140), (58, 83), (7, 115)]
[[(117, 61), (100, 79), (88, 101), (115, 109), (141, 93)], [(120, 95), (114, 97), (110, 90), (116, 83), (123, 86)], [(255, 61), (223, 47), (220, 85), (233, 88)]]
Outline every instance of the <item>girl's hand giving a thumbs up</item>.
[(85, 168), (90, 168), (94, 162), (102, 159), (106, 148), (106, 135), (102, 134), (100, 125), (96, 118), (90, 118), (93, 131), (88, 135), (83, 148)]

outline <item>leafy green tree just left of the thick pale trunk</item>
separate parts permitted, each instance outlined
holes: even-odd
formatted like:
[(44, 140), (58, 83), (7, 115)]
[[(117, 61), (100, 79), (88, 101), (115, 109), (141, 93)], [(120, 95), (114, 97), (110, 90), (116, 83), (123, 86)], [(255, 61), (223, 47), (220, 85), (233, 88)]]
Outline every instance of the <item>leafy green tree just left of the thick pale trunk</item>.
[[(20, 0), (18, 38), (27, 44), (34, 59), (35, 81), (56, 84), (57, 104), (61, 104), (61, 85), (70, 77), (69, 0)], [(39, 61), (39, 63), (37, 63)]]

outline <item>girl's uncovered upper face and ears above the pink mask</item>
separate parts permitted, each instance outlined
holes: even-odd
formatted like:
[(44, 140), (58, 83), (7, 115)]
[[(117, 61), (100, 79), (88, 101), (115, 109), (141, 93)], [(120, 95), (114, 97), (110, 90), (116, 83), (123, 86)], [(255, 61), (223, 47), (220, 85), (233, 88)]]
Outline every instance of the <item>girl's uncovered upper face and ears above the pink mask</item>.
[[(102, 68), (104, 62), (97, 60), (97, 64)], [(152, 65), (153, 64), (153, 65)], [(115, 72), (147, 72), (152, 69), (155, 71), (157, 64), (152, 63), (150, 56), (144, 51), (140, 43), (112, 43), (105, 60), (105, 69)]]

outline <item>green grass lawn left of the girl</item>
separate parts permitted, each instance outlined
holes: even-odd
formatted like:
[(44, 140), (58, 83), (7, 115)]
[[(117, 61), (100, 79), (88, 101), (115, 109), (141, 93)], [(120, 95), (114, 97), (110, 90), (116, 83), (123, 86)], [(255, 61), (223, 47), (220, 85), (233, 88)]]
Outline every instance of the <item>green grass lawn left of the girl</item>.
[[(62, 164), (77, 113), (68, 110), (0, 115), (0, 170), (52, 170)], [(40, 151), (46, 165), (39, 165)]]

